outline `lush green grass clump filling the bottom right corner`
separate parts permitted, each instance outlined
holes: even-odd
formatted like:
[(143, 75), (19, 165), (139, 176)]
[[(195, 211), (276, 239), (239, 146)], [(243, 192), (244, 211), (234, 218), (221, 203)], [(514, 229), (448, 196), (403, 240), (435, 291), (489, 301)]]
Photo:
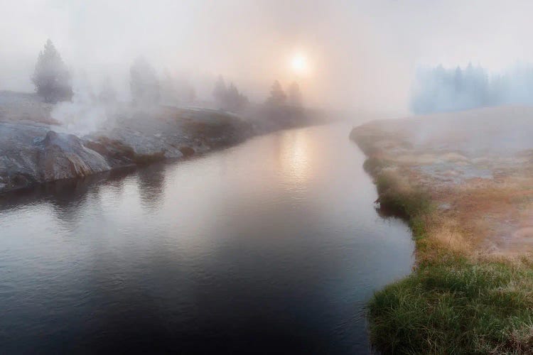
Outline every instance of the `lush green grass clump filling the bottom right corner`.
[(385, 354), (533, 351), (533, 271), (449, 258), (375, 293), (370, 339)]

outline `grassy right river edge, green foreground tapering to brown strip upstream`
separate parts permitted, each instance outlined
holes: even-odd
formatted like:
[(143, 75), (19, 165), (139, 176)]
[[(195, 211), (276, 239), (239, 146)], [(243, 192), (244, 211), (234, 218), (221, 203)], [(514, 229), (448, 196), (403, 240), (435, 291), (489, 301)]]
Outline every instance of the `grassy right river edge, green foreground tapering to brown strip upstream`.
[(477, 256), (434, 206), (386, 161), (365, 169), (380, 209), (407, 220), (416, 268), (375, 293), (368, 305), (370, 339), (385, 354), (533, 353), (533, 263)]

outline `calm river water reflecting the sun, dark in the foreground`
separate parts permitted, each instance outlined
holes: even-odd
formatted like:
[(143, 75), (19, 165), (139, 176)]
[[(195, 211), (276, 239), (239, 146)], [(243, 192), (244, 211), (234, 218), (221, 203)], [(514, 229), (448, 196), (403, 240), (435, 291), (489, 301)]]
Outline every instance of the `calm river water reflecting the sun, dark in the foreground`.
[(409, 273), (350, 126), (0, 197), (0, 353), (369, 352)]

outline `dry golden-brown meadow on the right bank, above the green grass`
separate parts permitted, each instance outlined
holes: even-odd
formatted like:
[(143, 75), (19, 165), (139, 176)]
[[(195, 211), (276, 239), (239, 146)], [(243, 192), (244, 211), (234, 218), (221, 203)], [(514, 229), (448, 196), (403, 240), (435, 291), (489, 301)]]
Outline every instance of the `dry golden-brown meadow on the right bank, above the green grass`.
[[(373, 159), (372, 175), (387, 172), (397, 180), (399, 191), (424, 190), (436, 206), (447, 207), (432, 214), (428, 239), (452, 251), (476, 255), (533, 253), (531, 150), (469, 158), (456, 150), (415, 149), (409, 143), (409, 131), (402, 127), (401, 121), (367, 124), (352, 131), (351, 137)], [(422, 169), (437, 165), (446, 168), (433, 175)], [(493, 178), (464, 178), (461, 168), (490, 170)]]

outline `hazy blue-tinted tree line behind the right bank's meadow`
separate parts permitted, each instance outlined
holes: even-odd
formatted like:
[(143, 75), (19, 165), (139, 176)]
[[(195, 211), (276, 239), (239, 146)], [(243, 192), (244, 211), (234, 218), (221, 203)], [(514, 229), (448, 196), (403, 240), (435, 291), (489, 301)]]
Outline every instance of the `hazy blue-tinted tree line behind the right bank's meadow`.
[(483, 67), (447, 69), (442, 65), (416, 73), (411, 110), (415, 114), (461, 111), (504, 104), (533, 105), (533, 68), (517, 66), (500, 75)]

